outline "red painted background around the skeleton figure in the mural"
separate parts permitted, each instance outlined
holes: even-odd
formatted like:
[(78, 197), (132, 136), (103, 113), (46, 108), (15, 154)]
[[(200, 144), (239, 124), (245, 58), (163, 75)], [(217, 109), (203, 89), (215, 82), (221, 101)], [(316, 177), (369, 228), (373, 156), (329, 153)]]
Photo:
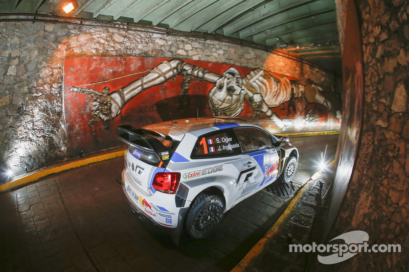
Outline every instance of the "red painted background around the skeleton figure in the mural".
[[(109, 127), (104, 129), (102, 122), (95, 122), (91, 127), (88, 120), (92, 118), (94, 96), (73, 92), (71, 87), (91, 88), (102, 94), (104, 87), (110, 91), (117, 91), (121, 87), (140, 79), (152, 68), (169, 58), (143, 58), (143, 57), (92, 57), (73, 58), (64, 60), (64, 115), (68, 138), (67, 152), (71, 156), (107, 149), (118, 146), (121, 142), (116, 137), (116, 128), (122, 124), (142, 127), (154, 122), (188, 117), (213, 116), (209, 109), (208, 94), (215, 86), (211, 82), (191, 80), (189, 98), (180, 104), (180, 83), (182, 76), (177, 76), (163, 84), (146, 89), (133, 97), (125, 104), (119, 116), (109, 121)], [(206, 61), (184, 60), (186, 63), (205, 68), (222, 77), (223, 72), (230, 67), (236, 68), (244, 78), (253, 69), (223, 63)], [(277, 79), (283, 75), (269, 72)], [(297, 80), (287, 77), (289, 80)], [(96, 84), (95, 84), (96, 83)], [(293, 99), (294, 106), (288, 110), (289, 102), (271, 108), (280, 118), (288, 118), (291, 126), (285, 132), (320, 131), (339, 129), (339, 120), (334, 117), (328, 108), (317, 103), (308, 103), (306, 97), (300, 96)], [(252, 119), (254, 109), (244, 101), (244, 108), (239, 117)], [(294, 112), (296, 109), (296, 112)], [(313, 112), (313, 113), (311, 113)], [(333, 111), (334, 112), (334, 111)], [(316, 120), (314, 120), (316, 119)], [(309, 121), (309, 125), (306, 125)], [(280, 132), (267, 115), (256, 116), (253, 120), (272, 131)]]

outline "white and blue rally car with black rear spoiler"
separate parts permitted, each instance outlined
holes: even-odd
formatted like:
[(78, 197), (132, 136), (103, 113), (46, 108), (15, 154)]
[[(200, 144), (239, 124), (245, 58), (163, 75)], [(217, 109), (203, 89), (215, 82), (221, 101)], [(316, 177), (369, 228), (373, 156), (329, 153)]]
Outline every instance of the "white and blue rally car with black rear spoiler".
[[(289, 182), (298, 150), (241, 118), (192, 118), (118, 127), (130, 146), (122, 182), (133, 210), (155, 225), (213, 234), (223, 213), (275, 180)], [(287, 141), (286, 141), (287, 140)]]

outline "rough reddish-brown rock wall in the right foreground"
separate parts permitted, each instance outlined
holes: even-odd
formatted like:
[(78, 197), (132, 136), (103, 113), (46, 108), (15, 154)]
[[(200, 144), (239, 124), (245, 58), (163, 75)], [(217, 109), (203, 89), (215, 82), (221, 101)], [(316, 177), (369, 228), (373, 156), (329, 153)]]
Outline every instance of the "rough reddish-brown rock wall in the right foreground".
[(401, 244), (402, 253), (359, 253), (334, 265), (337, 270), (407, 271), (409, 2), (357, 4), (362, 23), (363, 127), (353, 176), (328, 238), (361, 230), (369, 233), (370, 245)]

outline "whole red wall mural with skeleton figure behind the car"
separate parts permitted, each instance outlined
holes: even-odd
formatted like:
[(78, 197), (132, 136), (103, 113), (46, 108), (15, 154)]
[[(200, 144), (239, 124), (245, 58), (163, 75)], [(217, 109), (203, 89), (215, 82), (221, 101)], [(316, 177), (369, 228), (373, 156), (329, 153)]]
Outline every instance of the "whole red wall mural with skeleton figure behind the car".
[[(276, 72), (205, 61), (94, 57), (64, 61), (69, 154), (119, 144), (116, 127), (238, 116), (275, 132), (339, 129), (321, 87)], [(338, 112), (339, 114), (339, 112)]]

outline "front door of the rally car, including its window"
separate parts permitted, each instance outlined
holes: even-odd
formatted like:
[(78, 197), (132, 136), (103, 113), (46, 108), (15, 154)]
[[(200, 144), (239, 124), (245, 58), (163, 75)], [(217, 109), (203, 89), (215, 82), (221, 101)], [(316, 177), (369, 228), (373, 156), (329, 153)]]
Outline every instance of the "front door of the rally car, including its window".
[(249, 196), (277, 179), (279, 151), (267, 131), (255, 127), (237, 127), (234, 131), (242, 152), (242, 170), (237, 182)]

